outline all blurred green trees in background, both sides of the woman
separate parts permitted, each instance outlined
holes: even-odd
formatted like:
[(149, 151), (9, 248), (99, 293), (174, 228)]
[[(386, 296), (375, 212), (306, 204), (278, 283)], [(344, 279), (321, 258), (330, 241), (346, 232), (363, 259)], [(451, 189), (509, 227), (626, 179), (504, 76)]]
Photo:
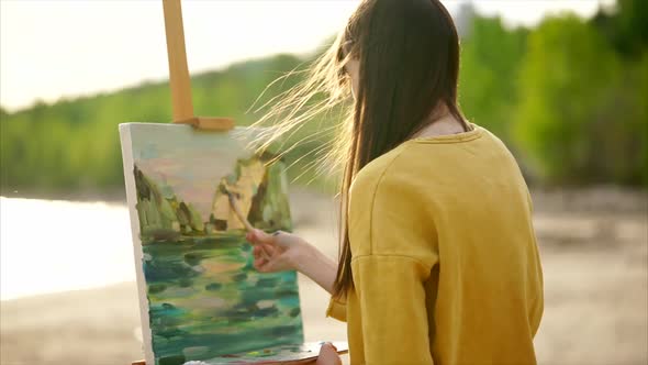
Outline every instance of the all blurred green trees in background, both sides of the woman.
[[(563, 14), (536, 29), (507, 29), (476, 16), (461, 40), (459, 99), (466, 115), (498, 134), (538, 184), (648, 186), (648, 2), (619, 0), (591, 20)], [(304, 62), (291, 55), (194, 75), (198, 115), (245, 113), (268, 84)], [(294, 85), (278, 82), (264, 100)], [(167, 82), (145, 82), (110, 95), (42, 102), (15, 113), (0, 109), (0, 193), (123, 190), (118, 128), (169, 122)], [(335, 112), (293, 141), (328, 126)], [(308, 155), (331, 141), (324, 133), (287, 155), (289, 170), (314, 166)], [(303, 174), (303, 181), (313, 177)]]

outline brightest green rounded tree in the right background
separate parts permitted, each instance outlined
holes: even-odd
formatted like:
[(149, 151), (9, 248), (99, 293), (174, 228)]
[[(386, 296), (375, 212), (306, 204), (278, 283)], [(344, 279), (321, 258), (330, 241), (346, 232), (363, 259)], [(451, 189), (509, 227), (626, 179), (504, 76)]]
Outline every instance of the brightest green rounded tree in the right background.
[(617, 68), (611, 47), (576, 16), (548, 19), (529, 36), (514, 130), (544, 179), (588, 179), (606, 158), (592, 136), (619, 123), (605, 115)]

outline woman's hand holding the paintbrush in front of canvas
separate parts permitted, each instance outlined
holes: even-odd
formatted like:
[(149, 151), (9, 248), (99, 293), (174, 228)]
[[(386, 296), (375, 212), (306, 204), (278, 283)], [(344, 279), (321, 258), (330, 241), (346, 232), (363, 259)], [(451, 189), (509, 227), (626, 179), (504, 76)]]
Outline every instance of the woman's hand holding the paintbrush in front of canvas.
[(312, 246), (299, 236), (277, 231), (268, 234), (254, 230), (245, 235), (254, 245), (254, 267), (261, 273), (300, 270)]

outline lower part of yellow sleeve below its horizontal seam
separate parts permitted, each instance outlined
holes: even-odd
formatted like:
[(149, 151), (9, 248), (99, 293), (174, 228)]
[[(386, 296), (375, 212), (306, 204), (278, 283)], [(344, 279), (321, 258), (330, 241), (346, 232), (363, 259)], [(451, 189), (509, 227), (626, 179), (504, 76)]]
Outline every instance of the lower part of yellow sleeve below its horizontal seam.
[(368, 255), (355, 257), (351, 269), (367, 364), (433, 364), (426, 265), (409, 256)]

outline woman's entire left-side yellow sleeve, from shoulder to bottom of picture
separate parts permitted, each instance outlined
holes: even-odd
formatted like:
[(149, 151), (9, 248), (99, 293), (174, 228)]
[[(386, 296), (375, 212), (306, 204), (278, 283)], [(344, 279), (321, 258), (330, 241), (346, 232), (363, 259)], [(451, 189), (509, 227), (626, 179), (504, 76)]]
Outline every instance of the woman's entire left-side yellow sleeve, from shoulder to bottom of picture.
[(384, 156), (358, 173), (350, 191), (353, 305), (360, 311), (353, 321), (367, 364), (433, 364), (424, 283), (438, 250), (428, 187), (414, 169), (392, 164), (398, 154)]

